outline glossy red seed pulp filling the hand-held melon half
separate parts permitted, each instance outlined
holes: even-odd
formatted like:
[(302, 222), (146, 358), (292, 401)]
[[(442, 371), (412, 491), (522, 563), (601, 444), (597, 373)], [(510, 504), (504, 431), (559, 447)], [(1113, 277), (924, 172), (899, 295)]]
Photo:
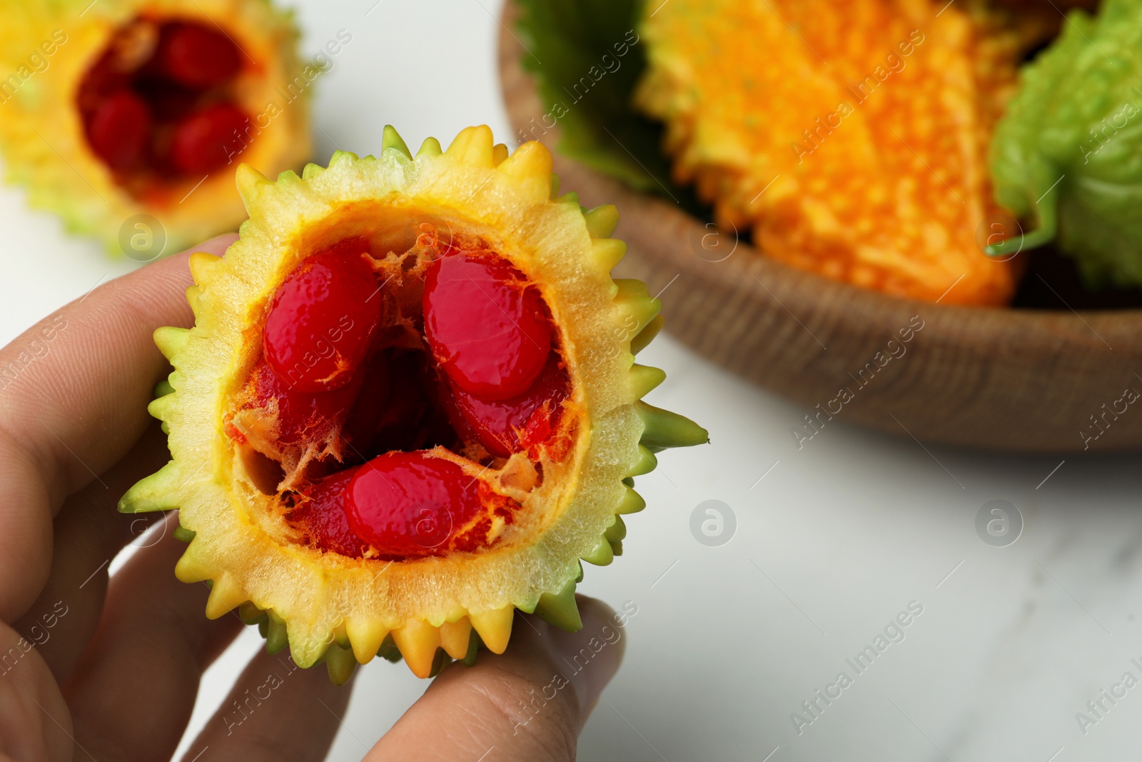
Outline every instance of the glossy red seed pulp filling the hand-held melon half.
[[(484, 474), (515, 452), (566, 451), (555, 441), (570, 379), (550, 311), (489, 250), (395, 263), (370, 251), (368, 239), (345, 239), (286, 276), (241, 411), (273, 417), (279, 446), (336, 454), (279, 494), (313, 547), (387, 560), (477, 552), (520, 507)], [(465, 386), (473, 379), (481, 391)]]

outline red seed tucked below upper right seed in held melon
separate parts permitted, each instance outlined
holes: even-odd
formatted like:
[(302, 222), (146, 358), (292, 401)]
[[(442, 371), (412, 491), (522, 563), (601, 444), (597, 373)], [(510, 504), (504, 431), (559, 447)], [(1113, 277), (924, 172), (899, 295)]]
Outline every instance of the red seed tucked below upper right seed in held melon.
[(560, 355), (555, 352), (531, 388), (510, 400), (483, 400), (452, 384), (455, 410), (464, 419), (453, 426), (457, 431), (473, 432), (485, 450), (506, 458), (550, 438), (569, 386), (566, 371), (560, 368)]

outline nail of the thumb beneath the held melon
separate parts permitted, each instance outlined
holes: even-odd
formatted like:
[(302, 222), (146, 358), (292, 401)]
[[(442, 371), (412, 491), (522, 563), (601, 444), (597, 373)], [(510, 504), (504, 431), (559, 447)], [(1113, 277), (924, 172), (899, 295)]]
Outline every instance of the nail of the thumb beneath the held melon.
[(619, 616), (605, 603), (577, 596), (582, 629), (577, 633), (549, 627), (544, 639), (555, 664), (574, 688), (579, 699), (580, 722), (598, 703), (603, 689), (619, 671), (627, 635)]

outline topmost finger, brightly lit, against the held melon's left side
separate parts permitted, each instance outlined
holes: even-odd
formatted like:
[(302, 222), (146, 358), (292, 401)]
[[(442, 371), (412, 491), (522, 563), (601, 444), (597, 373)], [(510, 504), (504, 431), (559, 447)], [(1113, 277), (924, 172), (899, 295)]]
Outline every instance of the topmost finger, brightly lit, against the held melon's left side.
[[(222, 254), (233, 238), (201, 248)], [(0, 350), (0, 368), (19, 367), (0, 394), (0, 420), (37, 457), (57, 503), (143, 432), (151, 388), (167, 367), (152, 334), (193, 321), (186, 260), (179, 254), (105, 283)]]

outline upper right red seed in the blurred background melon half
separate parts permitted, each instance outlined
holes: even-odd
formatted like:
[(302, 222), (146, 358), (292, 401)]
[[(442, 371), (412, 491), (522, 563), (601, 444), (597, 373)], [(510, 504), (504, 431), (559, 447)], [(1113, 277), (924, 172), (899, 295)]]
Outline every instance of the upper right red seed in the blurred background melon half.
[(199, 24), (170, 24), (162, 31), (154, 65), (178, 85), (204, 90), (234, 77), (242, 59), (225, 34)]

